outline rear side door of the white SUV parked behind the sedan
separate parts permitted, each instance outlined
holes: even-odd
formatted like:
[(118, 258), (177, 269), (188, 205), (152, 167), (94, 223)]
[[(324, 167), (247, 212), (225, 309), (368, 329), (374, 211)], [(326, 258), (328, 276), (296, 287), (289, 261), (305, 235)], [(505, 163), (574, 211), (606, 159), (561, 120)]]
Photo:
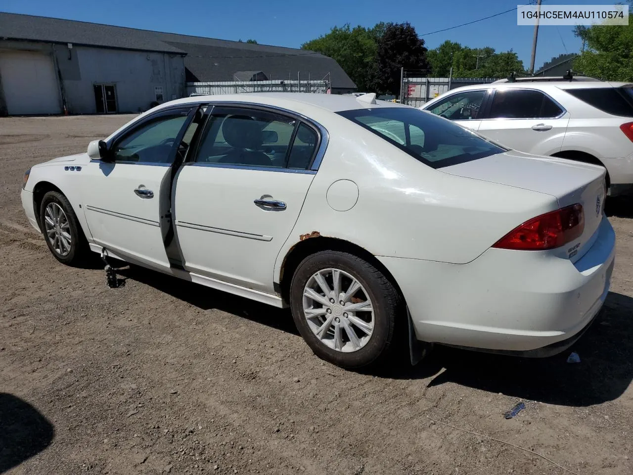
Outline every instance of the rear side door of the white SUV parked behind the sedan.
[(511, 149), (535, 155), (560, 151), (569, 114), (536, 89), (497, 89), (479, 133)]

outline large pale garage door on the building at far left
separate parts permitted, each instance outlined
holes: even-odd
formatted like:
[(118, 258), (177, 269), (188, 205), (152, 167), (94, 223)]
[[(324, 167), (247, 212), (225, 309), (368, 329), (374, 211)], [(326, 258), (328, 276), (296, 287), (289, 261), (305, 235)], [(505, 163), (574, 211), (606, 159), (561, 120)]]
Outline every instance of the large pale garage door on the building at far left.
[(0, 77), (9, 115), (61, 113), (60, 87), (51, 56), (0, 51)]

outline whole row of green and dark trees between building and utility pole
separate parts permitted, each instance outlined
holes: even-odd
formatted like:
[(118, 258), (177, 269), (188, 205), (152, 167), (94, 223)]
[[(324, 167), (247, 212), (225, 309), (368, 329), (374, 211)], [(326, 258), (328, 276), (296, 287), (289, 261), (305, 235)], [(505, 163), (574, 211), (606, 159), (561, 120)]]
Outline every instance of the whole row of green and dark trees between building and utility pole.
[(496, 53), (492, 47), (469, 48), (445, 41), (427, 49), (410, 23), (377, 23), (352, 28), (349, 23), (305, 42), (302, 49), (336, 60), (358, 91), (398, 95), (400, 70), (415, 70), (420, 77), (507, 77), (523, 73), (523, 62), (512, 50)]

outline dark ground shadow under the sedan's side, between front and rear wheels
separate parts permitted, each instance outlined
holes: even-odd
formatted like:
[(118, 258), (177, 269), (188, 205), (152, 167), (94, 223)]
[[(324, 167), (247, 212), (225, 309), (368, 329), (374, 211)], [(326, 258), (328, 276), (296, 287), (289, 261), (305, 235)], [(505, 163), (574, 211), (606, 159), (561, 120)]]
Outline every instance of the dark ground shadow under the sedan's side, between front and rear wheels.
[[(299, 335), (288, 308), (276, 308), (248, 298), (211, 289), (194, 282), (167, 276), (135, 265), (117, 269), (118, 276), (142, 282), (175, 298), (184, 300), (201, 310), (216, 308), (286, 333)], [(119, 279), (122, 280), (122, 279)]]

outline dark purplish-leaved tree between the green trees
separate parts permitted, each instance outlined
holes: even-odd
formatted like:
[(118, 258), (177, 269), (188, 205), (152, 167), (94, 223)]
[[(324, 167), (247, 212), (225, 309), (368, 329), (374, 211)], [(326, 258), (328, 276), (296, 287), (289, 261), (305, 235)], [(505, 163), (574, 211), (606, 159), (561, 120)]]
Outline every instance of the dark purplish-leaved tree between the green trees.
[(378, 40), (375, 90), (383, 94), (400, 93), (400, 70), (421, 70), (429, 67), (427, 48), (410, 23), (387, 23)]

